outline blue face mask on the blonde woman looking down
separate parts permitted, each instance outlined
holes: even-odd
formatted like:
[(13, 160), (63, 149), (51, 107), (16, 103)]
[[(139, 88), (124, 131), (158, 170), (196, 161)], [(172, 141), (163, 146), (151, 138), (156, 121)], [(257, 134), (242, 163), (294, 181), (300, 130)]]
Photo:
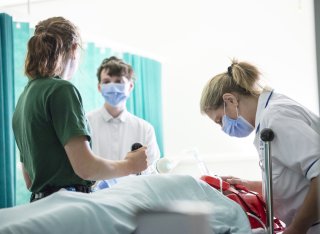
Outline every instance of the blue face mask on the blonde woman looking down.
[(254, 127), (245, 118), (238, 115), (238, 108), (237, 118), (231, 119), (229, 116), (226, 115), (226, 110), (224, 106), (224, 115), (222, 117), (222, 130), (229, 136), (246, 137), (254, 130)]

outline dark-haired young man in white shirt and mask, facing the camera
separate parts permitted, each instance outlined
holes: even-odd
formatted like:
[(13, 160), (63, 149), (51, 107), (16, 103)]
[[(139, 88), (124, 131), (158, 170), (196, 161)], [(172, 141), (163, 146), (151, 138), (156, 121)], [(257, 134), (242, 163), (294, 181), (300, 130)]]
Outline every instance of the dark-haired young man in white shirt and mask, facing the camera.
[(107, 159), (119, 160), (131, 151), (134, 143), (140, 143), (147, 147), (148, 158), (148, 168), (141, 174), (155, 173), (153, 164), (160, 158), (160, 150), (154, 128), (126, 109), (127, 98), (134, 88), (132, 67), (112, 56), (103, 60), (97, 77), (98, 90), (105, 103), (87, 114), (93, 152)]

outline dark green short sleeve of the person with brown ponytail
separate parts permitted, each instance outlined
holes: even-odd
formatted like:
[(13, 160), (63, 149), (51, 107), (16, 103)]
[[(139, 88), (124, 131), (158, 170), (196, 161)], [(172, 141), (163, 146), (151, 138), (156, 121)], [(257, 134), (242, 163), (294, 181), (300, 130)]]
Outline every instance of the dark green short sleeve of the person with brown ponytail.
[(63, 146), (76, 136), (86, 136), (90, 141), (82, 99), (71, 83), (65, 83), (52, 93), (49, 109), (53, 127)]

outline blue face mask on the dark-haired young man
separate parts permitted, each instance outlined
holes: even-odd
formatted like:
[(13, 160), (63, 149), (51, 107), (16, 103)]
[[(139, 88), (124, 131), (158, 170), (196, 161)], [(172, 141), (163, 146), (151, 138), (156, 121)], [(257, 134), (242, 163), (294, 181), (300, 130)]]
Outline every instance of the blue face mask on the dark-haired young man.
[(129, 83), (102, 84), (101, 94), (109, 105), (119, 107), (124, 105), (129, 97)]

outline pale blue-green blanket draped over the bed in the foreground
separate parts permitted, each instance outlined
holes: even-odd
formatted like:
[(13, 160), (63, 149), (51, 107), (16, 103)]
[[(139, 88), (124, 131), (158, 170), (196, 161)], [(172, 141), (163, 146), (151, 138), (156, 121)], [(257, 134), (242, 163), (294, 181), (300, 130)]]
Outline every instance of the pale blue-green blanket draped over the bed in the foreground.
[(59, 191), (37, 202), (0, 210), (0, 233), (129, 234), (138, 210), (174, 201), (210, 202), (212, 233), (251, 233), (242, 208), (188, 175), (128, 177), (112, 188), (85, 194)]

